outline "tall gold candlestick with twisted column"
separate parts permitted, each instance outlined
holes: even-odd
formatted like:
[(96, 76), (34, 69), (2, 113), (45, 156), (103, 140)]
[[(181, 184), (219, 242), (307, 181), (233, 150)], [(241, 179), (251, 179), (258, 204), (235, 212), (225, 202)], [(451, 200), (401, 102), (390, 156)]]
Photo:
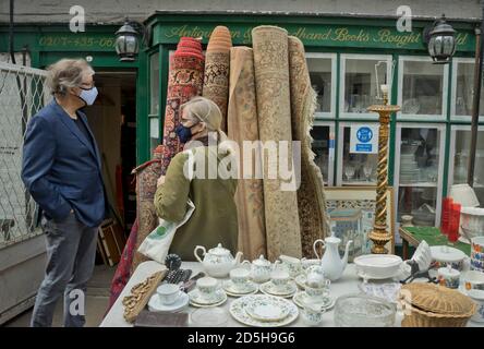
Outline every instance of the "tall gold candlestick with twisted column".
[(388, 105), (388, 86), (382, 85), (382, 91), (384, 95), (383, 105), (373, 105), (367, 108), (367, 110), (379, 115), (375, 222), (372, 232), (368, 234), (370, 240), (373, 242), (372, 253), (378, 254), (388, 253), (385, 245), (388, 241), (391, 241), (391, 233), (387, 230), (388, 124), (390, 122), (390, 115), (400, 110), (399, 106)]

